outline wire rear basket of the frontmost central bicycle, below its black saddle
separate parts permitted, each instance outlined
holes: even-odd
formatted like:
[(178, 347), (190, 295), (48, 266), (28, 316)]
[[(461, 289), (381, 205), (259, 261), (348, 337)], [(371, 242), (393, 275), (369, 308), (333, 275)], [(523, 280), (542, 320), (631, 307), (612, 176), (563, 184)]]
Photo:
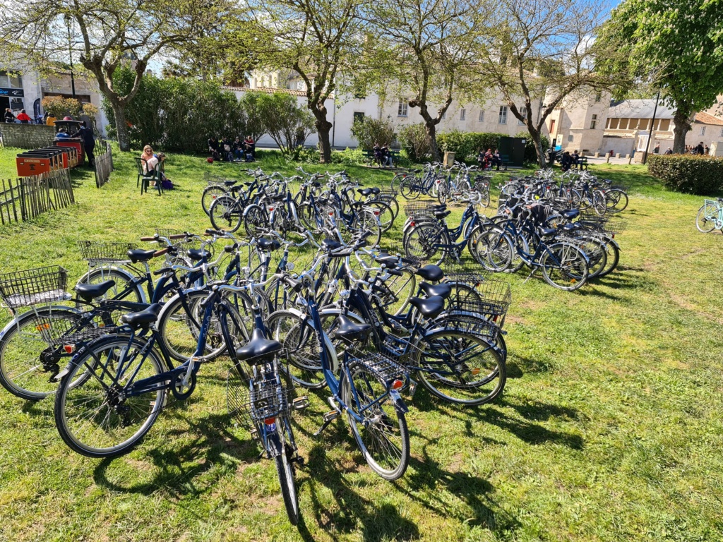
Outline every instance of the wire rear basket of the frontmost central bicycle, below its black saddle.
[[(286, 371), (288, 374), (288, 370)], [(294, 392), (281, 374), (281, 384), (275, 375), (266, 374), (259, 379), (249, 379), (236, 367), (228, 369), (226, 376), (226, 407), (236, 423), (249, 431), (268, 418), (291, 414)]]

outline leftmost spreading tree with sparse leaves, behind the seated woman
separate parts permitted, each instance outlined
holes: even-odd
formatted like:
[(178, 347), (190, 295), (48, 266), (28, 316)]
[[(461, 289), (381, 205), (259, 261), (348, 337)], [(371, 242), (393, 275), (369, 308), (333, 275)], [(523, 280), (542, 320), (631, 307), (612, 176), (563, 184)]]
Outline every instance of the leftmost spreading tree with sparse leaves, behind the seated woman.
[[(80, 61), (111, 106), (121, 150), (129, 150), (126, 107), (137, 94), (151, 59), (197, 37), (233, 13), (232, 0), (14, 0), (4, 4), (0, 50), (41, 71)], [(134, 80), (123, 92), (114, 74), (127, 61)]]

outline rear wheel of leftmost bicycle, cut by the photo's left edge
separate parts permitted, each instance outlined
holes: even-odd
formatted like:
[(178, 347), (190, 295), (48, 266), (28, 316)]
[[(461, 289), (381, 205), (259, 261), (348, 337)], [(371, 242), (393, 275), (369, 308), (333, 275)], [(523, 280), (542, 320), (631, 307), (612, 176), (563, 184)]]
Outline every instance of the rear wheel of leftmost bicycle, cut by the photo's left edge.
[(60, 371), (60, 359), (43, 365), (56, 339), (66, 335), (81, 319), (71, 309), (39, 307), (7, 324), (0, 339), (0, 384), (12, 395), (38, 401), (52, 395), (58, 384), (49, 382)]

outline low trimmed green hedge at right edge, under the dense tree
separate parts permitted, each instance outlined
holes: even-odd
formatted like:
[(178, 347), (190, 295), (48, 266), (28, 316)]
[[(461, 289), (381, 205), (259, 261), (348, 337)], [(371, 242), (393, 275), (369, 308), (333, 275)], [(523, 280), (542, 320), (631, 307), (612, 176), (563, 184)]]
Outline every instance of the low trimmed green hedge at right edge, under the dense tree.
[(648, 155), (648, 171), (675, 192), (705, 196), (723, 189), (723, 158), (706, 155)]

